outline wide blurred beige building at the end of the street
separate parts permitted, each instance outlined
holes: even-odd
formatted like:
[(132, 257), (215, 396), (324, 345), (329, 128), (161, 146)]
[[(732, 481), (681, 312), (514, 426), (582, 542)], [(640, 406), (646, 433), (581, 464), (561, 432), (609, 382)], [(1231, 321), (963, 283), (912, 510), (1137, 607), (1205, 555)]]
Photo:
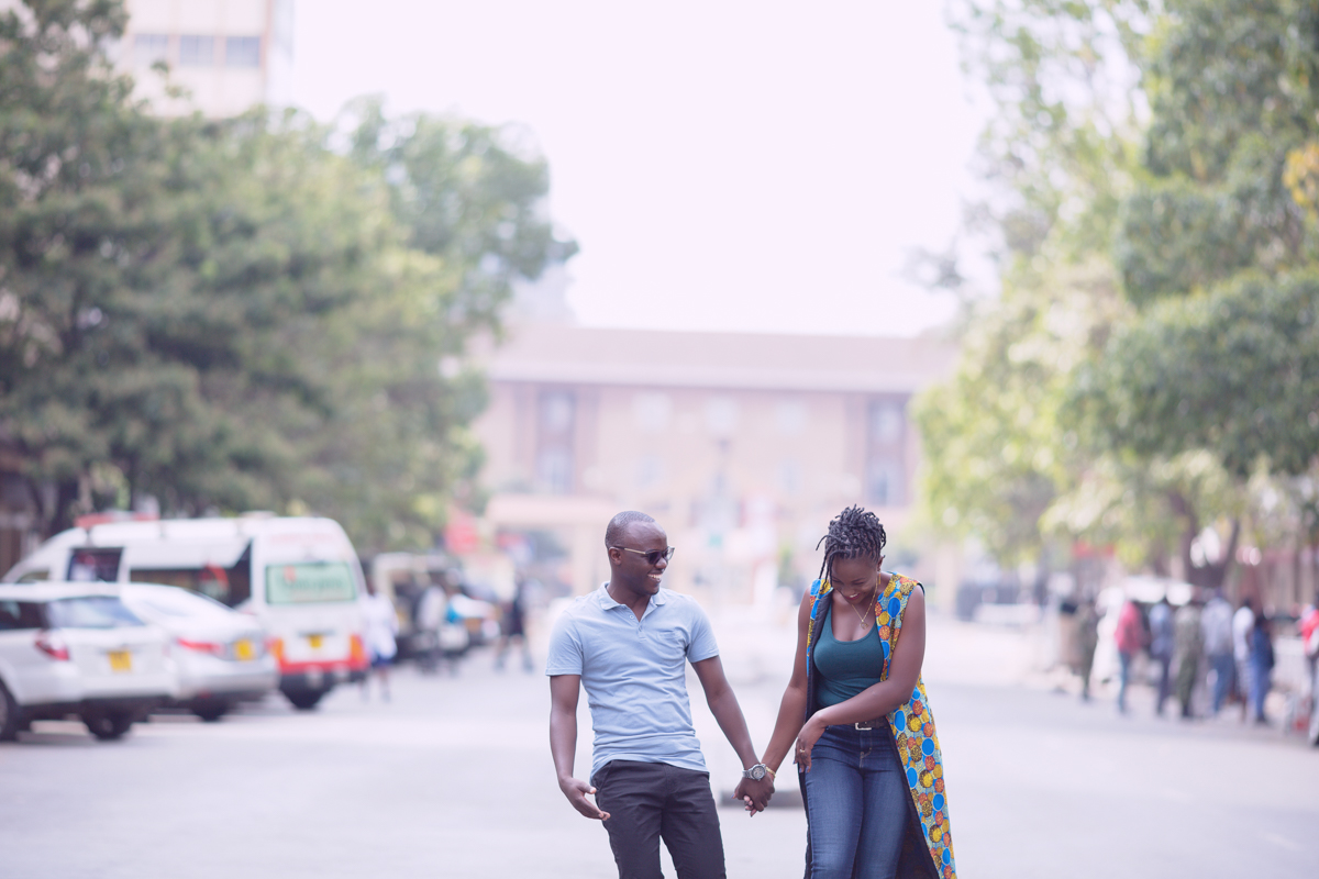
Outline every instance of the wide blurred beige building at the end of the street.
[(669, 531), (673, 585), (731, 600), (813, 579), (849, 503), (910, 557), (907, 405), (954, 354), (934, 339), (524, 324), (489, 361), (476, 424), (487, 527), (504, 546), (551, 535), (576, 592), (607, 579), (604, 525), (624, 509)]

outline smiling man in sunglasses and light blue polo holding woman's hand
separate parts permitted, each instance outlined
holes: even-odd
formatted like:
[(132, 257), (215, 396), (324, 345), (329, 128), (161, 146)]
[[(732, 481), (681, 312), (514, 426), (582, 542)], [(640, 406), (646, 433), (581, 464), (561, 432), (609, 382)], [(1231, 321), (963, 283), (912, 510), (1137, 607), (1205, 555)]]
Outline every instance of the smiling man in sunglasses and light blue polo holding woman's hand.
[[(687, 662), (745, 767), (735, 795), (752, 814), (769, 801), (773, 774), (756, 758), (704, 611), (660, 586), (673, 557), (663, 528), (644, 513), (620, 513), (604, 544), (609, 581), (574, 601), (550, 637), (550, 751), (559, 789), (583, 816), (604, 822), (620, 879), (660, 876), (661, 838), (679, 879), (723, 879), (724, 846), (691, 726)], [(590, 783), (572, 775), (579, 687), (595, 727)]]

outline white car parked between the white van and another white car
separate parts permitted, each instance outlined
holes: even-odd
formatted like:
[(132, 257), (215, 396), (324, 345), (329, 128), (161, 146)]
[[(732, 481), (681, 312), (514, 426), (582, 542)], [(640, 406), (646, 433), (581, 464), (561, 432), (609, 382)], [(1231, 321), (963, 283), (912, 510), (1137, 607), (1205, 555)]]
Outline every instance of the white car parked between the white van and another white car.
[(174, 639), (174, 701), (203, 721), (218, 721), (239, 701), (261, 698), (278, 687), (280, 666), (256, 617), (179, 586), (125, 582), (119, 596)]

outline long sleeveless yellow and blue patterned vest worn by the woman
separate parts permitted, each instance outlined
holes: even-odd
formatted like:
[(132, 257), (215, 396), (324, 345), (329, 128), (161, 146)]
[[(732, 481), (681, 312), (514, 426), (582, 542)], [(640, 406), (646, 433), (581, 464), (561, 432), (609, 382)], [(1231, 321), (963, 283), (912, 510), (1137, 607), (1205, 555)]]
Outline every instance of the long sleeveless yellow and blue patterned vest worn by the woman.
[[(888, 588), (876, 597), (874, 617), (880, 626), (880, 642), (884, 647), (884, 669), (880, 680), (889, 676), (893, 651), (902, 631), (902, 618), (906, 614), (911, 592), (919, 582), (900, 573), (889, 575)], [(923, 586), (921, 586), (923, 589)], [(811, 585), (811, 619), (806, 629), (806, 675), (809, 708), (814, 706), (813, 652), (815, 648), (816, 621), (828, 618), (828, 596), (834, 590), (828, 582), (816, 580)], [(888, 716), (897, 743), (898, 759), (906, 768), (907, 787), (911, 788), (911, 826), (909, 841), (904, 846), (898, 875), (934, 875), (942, 879), (956, 879), (958, 867), (952, 855), (952, 833), (948, 829), (948, 800), (943, 784), (943, 754), (939, 750), (939, 737), (934, 730), (934, 717), (930, 714), (930, 700), (925, 695), (925, 683), (918, 677), (911, 698)], [(805, 789), (805, 787), (803, 787)], [(919, 834), (919, 849), (929, 853), (931, 861), (917, 854), (914, 837)], [(923, 863), (907, 863), (909, 858)], [(925, 867), (925, 868), (922, 868)]]

